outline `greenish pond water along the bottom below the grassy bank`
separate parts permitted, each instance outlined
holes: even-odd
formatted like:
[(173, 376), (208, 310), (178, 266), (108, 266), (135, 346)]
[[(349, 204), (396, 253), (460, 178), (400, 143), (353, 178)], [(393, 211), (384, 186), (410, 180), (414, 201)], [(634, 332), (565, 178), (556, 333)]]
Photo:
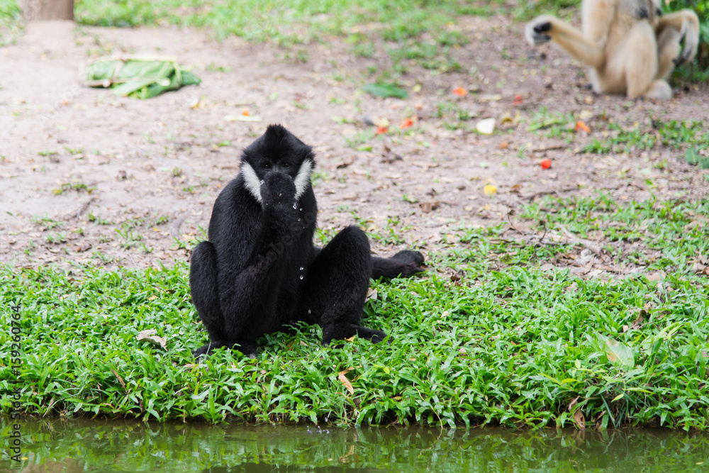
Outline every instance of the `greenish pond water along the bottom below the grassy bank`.
[[(0, 472), (708, 472), (709, 434), (0, 418)], [(16, 434), (19, 432), (19, 434)], [(21, 462), (11, 460), (11, 435)]]

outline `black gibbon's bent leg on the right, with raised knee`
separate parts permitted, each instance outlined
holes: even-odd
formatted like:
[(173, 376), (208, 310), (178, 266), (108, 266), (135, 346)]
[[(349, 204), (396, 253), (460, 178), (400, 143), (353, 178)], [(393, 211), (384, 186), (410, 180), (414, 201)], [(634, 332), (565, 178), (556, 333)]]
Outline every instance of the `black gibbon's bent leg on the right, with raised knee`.
[(354, 226), (337, 233), (308, 267), (298, 313), (323, 328), (323, 345), (352, 335), (384, 340), (386, 333), (359, 325), (371, 273), (369, 240)]

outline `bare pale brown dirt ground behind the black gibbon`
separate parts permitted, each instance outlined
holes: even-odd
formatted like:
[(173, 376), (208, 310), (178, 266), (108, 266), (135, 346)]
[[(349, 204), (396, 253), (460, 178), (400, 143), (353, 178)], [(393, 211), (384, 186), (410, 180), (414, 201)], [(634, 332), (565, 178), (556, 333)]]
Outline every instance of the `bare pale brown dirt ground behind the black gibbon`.
[[(609, 120), (643, 128), (652, 118), (707, 118), (707, 84), (675, 84), (675, 98), (664, 104), (596, 96), (584, 88), (579, 65), (553, 45), (532, 50), (523, 25), (510, 18), (462, 18), (454, 28), (471, 39), (454, 52), (461, 72), (411, 64), (399, 79), (410, 97), (401, 100), (361, 90), (387, 55), (354, 57), (337, 38), (299, 46), (296, 55), (217, 42), (198, 30), (30, 25), (0, 50), (0, 262), (111, 269), (189, 260), (186, 247), (202, 238), (220, 188), (238, 173), (240, 150), (268, 123), (283, 123), (315, 148), (321, 228), (355, 223), (350, 211), (372, 231), (387, 233), (397, 219), (396, 228), (411, 226), (401, 233), (406, 243), (374, 244), (380, 254), (411, 245), (426, 252), (461, 224), (507, 221), (510, 208), (545, 194), (708, 195), (709, 180), (679, 150), (579, 152), (603, 139)], [(83, 87), (79, 66), (108, 52), (172, 55), (202, 83), (147, 101)], [(457, 87), (479, 92), (459, 97)], [(479, 118), (511, 120), (493, 135), (449, 130), (437, 116), (446, 102), (476, 116), (464, 122), (470, 128)], [(571, 133), (567, 143), (530, 133), (542, 106), (584, 118), (591, 134)], [(260, 121), (234, 121), (244, 109)], [(346, 138), (371, 128), (365, 114), (391, 126), (362, 143), (371, 150), (358, 151)], [(399, 130), (405, 118), (413, 118), (414, 133)], [(540, 167), (544, 158), (551, 169)], [(497, 193), (484, 194), (486, 184)]]

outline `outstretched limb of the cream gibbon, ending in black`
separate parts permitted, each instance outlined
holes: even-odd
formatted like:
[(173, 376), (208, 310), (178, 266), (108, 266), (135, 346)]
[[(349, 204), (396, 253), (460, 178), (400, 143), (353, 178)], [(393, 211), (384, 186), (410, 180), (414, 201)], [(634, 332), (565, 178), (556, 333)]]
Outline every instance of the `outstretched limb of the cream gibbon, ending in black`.
[(587, 66), (603, 67), (603, 50), (581, 31), (554, 16), (537, 16), (525, 27), (527, 41), (533, 46), (539, 43), (554, 41), (576, 60)]

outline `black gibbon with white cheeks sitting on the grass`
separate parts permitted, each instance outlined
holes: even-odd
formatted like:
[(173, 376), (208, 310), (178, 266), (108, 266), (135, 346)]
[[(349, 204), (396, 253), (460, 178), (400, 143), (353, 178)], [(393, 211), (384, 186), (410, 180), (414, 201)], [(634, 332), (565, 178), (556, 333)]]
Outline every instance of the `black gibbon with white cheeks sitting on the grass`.
[(257, 338), (296, 321), (318, 323), (323, 345), (352, 335), (374, 343), (386, 337), (360, 325), (369, 278), (420, 272), (423, 255), (372, 258), (367, 236), (354, 226), (315, 247), (314, 158), (279, 125), (244, 150), (240, 174), (214, 203), (209, 240), (192, 254), (192, 301), (211, 340), (195, 357), (220, 347), (254, 357)]

